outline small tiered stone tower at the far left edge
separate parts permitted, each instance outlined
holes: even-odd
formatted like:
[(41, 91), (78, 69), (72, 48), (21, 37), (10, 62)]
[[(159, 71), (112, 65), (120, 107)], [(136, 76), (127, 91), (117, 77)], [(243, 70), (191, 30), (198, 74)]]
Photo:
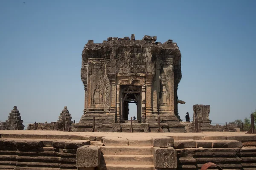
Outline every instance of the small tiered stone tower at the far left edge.
[(11, 113), (9, 113), (8, 120), (6, 122), (0, 122), (0, 130), (23, 130), (23, 120), (21, 120), (21, 116), (19, 110), (17, 110), (17, 106), (14, 106)]

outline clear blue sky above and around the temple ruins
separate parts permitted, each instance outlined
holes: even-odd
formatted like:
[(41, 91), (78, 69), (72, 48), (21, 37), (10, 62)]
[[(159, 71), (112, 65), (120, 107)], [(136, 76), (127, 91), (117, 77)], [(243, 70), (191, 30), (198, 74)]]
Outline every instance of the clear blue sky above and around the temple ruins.
[[(23, 3), (25, 2), (25, 3)], [(1, 0), (0, 120), (17, 105), (27, 122), (84, 109), (81, 52), (88, 40), (135, 34), (172, 39), (182, 54), (179, 114), (211, 105), (213, 123), (256, 109), (255, 0)]]

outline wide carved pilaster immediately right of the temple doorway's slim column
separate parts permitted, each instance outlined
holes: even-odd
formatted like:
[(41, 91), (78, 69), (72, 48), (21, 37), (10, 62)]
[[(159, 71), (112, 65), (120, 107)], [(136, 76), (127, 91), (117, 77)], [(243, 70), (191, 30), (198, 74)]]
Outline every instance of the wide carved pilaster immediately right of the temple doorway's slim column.
[(152, 75), (146, 77), (146, 119), (152, 117)]

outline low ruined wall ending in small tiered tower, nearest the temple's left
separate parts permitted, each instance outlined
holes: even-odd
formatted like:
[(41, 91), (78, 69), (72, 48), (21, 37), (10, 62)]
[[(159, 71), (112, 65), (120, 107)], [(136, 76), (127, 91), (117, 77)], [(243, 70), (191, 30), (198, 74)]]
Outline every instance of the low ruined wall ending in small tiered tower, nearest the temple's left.
[(72, 125), (73, 123), (71, 119), (72, 117), (67, 109), (67, 106), (65, 106), (64, 109), (61, 111), (57, 122), (35, 122), (33, 124), (28, 124), (27, 130), (61, 130), (61, 128), (63, 127), (65, 127), (64, 129), (67, 129), (69, 127), (68, 124)]

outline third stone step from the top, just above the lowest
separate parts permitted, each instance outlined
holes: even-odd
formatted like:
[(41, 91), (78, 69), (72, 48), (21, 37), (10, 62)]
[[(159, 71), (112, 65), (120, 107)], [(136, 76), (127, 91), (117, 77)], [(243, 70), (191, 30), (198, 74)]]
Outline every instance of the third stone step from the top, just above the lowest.
[(154, 164), (152, 155), (101, 155), (101, 162), (102, 164)]

